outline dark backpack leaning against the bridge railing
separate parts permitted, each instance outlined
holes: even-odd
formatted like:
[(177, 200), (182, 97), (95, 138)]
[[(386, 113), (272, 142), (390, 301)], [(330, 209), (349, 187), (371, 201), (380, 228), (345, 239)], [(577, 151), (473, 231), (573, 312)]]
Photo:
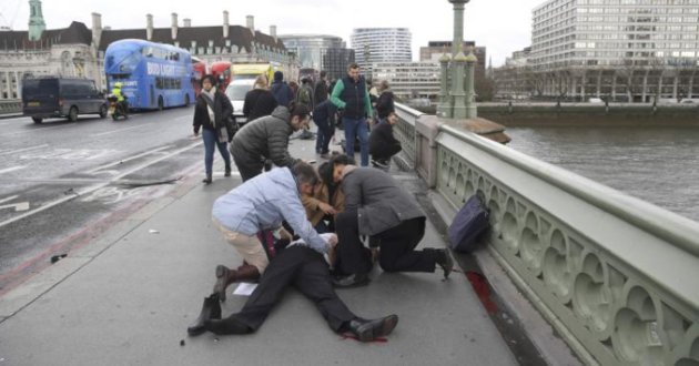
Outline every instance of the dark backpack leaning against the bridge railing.
[(480, 197), (472, 195), (449, 225), (449, 246), (455, 252), (473, 252), (480, 235), (490, 227), (488, 216), (488, 209)]

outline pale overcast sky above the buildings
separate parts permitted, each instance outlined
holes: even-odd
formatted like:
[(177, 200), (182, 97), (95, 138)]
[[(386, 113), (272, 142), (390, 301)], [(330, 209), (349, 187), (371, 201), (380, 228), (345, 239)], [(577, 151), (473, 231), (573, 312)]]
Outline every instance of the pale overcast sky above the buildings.
[[(545, 0), (473, 0), (466, 4), (464, 38), (487, 48), (493, 65), (500, 65), (513, 51), (530, 44), (531, 10)], [(170, 27), (170, 14), (192, 19), (192, 26), (223, 22), (223, 10), (231, 24), (245, 24), (255, 17), (255, 28), (277, 34), (322, 33), (342, 37), (350, 47), (354, 28), (405, 27), (413, 34), (413, 59), (419, 47), (433, 40), (450, 40), (453, 11), (447, 0), (43, 0), (48, 29), (65, 28), (72, 20), (92, 27), (91, 13), (102, 14), (102, 26), (113, 29), (145, 28), (152, 13), (156, 28)], [(26, 30), (29, 0), (0, 0), (0, 26)]]

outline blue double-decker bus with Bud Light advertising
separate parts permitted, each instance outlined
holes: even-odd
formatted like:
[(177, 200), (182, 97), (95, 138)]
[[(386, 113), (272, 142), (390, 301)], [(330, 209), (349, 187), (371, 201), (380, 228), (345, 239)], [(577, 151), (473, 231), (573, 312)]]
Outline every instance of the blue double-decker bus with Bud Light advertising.
[(192, 58), (186, 50), (143, 40), (112, 42), (104, 52), (109, 90), (121, 82), (131, 109), (189, 105), (194, 101)]

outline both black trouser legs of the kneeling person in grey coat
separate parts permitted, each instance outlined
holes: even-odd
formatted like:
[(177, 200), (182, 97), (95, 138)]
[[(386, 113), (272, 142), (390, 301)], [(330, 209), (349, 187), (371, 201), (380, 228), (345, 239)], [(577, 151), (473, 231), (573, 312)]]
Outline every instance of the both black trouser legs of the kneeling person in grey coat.
[[(345, 211), (335, 218), (340, 240), (337, 267), (343, 274), (367, 273), (372, 270), (371, 252), (359, 240), (356, 211)], [(425, 236), (425, 217), (415, 217), (372, 236), (379, 243), (378, 264), (386, 272), (435, 272), (437, 251), (415, 251)]]

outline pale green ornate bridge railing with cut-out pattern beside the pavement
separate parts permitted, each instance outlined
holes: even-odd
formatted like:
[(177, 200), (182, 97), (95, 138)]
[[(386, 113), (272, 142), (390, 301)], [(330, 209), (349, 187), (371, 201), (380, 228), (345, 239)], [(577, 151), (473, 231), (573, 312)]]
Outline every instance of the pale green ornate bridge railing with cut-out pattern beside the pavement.
[(698, 223), (397, 110), (404, 159), (455, 210), (483, 194), (489, 253), (586, 363), (699, 364)]

